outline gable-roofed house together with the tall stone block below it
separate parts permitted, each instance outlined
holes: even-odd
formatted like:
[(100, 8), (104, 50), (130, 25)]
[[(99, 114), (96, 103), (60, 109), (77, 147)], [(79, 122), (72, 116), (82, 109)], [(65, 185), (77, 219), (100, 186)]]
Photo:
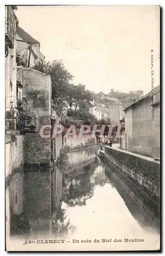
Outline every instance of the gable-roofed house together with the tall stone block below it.
[[(21, 118), (25, 135), (24, 163), (50, 166), (57, 160), (62, 147), (60, 136), (42, 138), (40, 135), (43, 125), (51, 127), (60, 121), (52, 108), (51, 77), (34, 69), (44, 59), (40, 52), (40, 42), (20, 27), (17, 27), (16, 38), (17, 83), (22, 86), (23, 99), (28, 103)], [(32, 122), (32, 116), (36, 117), (35, 122)]]

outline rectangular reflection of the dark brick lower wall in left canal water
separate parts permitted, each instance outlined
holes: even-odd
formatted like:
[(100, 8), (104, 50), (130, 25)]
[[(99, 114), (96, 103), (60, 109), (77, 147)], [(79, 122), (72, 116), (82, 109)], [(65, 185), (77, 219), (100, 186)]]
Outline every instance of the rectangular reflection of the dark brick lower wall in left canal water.
[(29, 231), (35, 238), (49, 237), (51, 224), (50, 172), (26, 172), (24, 188), (25, 221), (29, 223), (26, 233)]

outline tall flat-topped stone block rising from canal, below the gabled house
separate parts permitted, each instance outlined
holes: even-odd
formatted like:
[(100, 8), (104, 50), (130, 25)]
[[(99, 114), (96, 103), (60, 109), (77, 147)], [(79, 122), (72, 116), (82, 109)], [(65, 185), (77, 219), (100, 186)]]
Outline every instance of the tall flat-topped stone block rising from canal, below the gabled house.
[[(59, 156), (62, 147), (61, 137), (42, 138), (40, 129), (43, 125), (49, 127), (59, 123), (59, 117), (52, 109), (51, 77), (32, 68), (17, 67), (17, 81), (22, 84), (23, 97), (28, 102), (28, 110), (35, 113), (37, 121), (35, 127), (30, 127), (28, 120), (23, 123), (25, 142), (23, 154), (25, 164), (40, 164), (51, 166)], [(24, 116), (26, 112), (23, 112)], [(27, 118), (28, 119), (28, 118)], [(29, 129), (29, 130), (28, 130)]]

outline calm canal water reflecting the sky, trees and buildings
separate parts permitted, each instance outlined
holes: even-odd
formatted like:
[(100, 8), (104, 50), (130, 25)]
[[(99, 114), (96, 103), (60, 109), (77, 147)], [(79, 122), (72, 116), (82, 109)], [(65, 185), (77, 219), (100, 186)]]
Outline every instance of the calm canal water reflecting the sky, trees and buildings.
[(61, 238), (79, 250), (80, 242), (83, 250), (93, 241), (96, 249), (101, 244), (110, 250), (116, 250), (116, 244), (119, 250), (158, 246), (156, 209), (96, 159), (96, 150), (69, 152), (63, 173), (56, 167), (13, 174), (6, 200), (12, 239)]

